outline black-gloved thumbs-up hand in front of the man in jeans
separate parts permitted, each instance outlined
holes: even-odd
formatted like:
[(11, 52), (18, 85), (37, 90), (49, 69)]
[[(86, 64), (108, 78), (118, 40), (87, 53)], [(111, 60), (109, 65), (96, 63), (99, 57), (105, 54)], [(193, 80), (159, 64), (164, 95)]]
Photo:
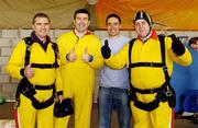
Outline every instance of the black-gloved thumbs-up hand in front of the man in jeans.
[(105, 45), (101, 47), (101, 54), (105, 59), (108, 59), (111, 56), (111, 49), (109, 48), (108, 40), (105, 40)]

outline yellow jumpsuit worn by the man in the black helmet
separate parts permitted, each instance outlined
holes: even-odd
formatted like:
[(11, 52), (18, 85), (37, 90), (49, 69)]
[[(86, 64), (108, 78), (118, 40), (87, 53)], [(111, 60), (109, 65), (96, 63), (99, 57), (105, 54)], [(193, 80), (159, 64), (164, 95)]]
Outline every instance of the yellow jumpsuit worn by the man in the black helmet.
[[(123, 66), (129, 67), (129, 44), (117, 55), (111, 55), (106, 59), (108, 66), (120, 69)], [(173, 62), (182, 66), (191, 63), (191, 56), (186, 48), (185, 54), (176, 56), (172, 50), (172, 38), (165, 37), (165, 58), (168, 68), (168, 74), (172, 74)], [(162, 62), (161, 45), (155, 34), (154, 37), (148, 38), (145, 43), (136, 39), (133, 44), (132, 63), (134, 62)], [(138, 89), (154, 89), (160, 88), (165, 82), (165, 77), (162, 68), (139, 67), (131, 70), (131, 83)], [(155, 94), (140, 94), (136, 93), (138, 100), (143, 103), (150, 103), (155, 98)], [(152, 110), (142, 110), (133, 105), (131, 102), (131, 109), (133, 115), (134, 128), (173, 128), (174, 110), (168, 106), (168, 103), (161, 102), (160, 106)]]

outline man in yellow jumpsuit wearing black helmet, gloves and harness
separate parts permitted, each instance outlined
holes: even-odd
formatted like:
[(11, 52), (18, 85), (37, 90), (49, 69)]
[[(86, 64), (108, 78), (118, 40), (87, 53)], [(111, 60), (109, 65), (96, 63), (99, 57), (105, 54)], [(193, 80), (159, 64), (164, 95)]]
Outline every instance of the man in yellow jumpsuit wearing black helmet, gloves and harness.
[(174, 91), (169, 85), (173, 62), (190, 65), (190, 53), (174, 35), (164, 37), (164, 43), (160, 42), (146, 12), (139, 11), (133, 22), (138, 38), (130, 42), (133, 43), (131, 49), (127, 44), (113, 56), (106, 44), (101, 48), (102, 56), (114, 69), (129, 67), (134, 128), (173, 128)]

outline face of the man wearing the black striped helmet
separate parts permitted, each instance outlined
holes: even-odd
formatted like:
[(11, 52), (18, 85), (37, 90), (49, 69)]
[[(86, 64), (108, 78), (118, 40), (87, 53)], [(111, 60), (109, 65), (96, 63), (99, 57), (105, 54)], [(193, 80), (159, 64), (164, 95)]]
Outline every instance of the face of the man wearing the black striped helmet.
[(145, 20), (136, 20), (134, 26), (136, 34), (142, 38), (146, 37), (150, 33), (150, 25)]

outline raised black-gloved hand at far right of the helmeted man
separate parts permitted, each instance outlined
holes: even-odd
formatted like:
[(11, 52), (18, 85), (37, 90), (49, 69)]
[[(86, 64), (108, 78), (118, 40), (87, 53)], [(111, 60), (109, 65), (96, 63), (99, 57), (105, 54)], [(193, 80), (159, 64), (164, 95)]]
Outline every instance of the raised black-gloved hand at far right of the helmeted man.
[(175, 36), (175, 34), (169, 35), (172, 37), (172, 49), (177, 56), (182, 56), (185, 53), (185, 46), (183, 43)]

